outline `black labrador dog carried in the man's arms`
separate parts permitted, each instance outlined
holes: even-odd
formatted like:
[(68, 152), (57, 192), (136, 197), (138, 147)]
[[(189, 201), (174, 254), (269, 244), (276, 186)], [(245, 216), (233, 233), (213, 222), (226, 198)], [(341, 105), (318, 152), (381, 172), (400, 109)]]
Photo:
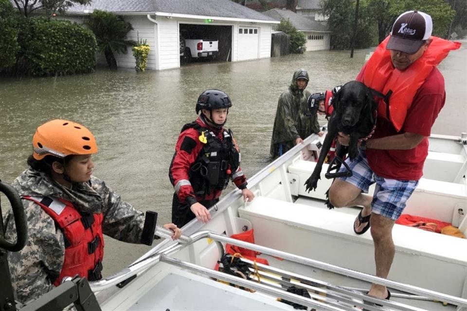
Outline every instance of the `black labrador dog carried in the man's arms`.
[(348, 148), (338, 144), (336, 155), (342, 159), (348, 152), (350, 160), (354, 160), (359, 155), (359, 139), (370, 135), (376, 124), (377, 102), (374, 99), (373, 92), (361, 82), (350, 81), (345, 83), (334, 95), (332, 106), (334, 110), (327, 124), (327, 134), (324, 137), (318, 163), (305, 182), (308, 192), (311, 189), (316, 190), (318, 180), (321, 179), (324, 159), (338, 133), (343, 132), (350, 135), (350, 143)]

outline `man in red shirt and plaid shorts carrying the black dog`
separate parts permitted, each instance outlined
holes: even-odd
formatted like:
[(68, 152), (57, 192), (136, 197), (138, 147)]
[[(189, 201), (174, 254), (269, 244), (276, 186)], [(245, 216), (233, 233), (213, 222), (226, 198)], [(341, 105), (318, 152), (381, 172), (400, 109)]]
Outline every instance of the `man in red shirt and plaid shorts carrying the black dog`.
[[(436, 68), (460, 44), (432, 37), (431, 16), (417, 11), (400, 15), (392, 33), (363, 66), (358, 81), (388, 94), (379, 100), (377, 127), (350, 162), (353, 176), (336, 179), (329, 189), (335, 207), (363, 206), (354, 223), (356, 234), (370, 228), (375, 244), (376, 276), (387, 278), (394, 259), (392, 229), (422, 177), (428, 136), (443, 108), (444, 78)], [(339, 142), (350, 137), (339, 133)], [(371, 184), (375, 193), (367, 196)], [(389, 299), (383, 285), (372, 284), (368, 295)]]

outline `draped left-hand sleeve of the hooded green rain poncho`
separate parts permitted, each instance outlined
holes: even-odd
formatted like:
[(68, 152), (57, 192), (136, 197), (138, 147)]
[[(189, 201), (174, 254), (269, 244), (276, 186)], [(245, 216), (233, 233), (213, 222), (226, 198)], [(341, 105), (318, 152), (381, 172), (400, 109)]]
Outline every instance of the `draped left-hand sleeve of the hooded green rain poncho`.
[(280, 96), (277, 105), (274, 124), (275, 132), (273, 133), (274, 143), (295, 141), (300, 137), (293, 118), (294, 112), (292, 110), (292, 96), (288, 92), (284, 92)]

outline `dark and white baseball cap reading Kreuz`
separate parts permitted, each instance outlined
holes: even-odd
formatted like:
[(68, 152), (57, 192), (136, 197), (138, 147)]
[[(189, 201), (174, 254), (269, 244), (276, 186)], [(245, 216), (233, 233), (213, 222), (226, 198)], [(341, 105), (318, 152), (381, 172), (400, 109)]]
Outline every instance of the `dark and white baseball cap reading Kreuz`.
[(414, 54), (428, 40), (433, 31), (431, 16), (418, 11), (402, 13), (394, 22), (386, 49)]

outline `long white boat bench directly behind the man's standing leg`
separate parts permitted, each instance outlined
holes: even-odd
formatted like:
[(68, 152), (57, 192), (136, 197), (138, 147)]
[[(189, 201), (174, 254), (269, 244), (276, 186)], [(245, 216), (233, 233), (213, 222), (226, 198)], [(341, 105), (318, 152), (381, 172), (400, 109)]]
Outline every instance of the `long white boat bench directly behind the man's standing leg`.
[[(313, 204), (313, 199), (309, 200)], [(354, 214), (343, 213), (321, 207), (323, 201), (316, 200), (314, 204), (256, 196), (238, 212), (240, 217), (251, 221), (256, 244), (374, 274), (370, 230), (362, 235), (353, 231), (358, 209)], [(389, 278), (414, 285), (425, 282), (417, 286), (466, 295), (462, 294), (467, 278), (466, 239), (396, 224), (393, 240), (396, 254)], [(414, 281), (419, 274), (432, 278)]]

